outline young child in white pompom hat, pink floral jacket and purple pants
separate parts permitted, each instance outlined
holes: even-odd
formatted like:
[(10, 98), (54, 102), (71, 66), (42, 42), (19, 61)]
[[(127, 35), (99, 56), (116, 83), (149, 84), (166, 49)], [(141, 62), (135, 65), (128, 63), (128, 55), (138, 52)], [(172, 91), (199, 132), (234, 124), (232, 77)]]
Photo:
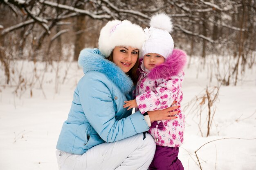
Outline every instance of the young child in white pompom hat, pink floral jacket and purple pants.
[[(173, 49), (171, 18), (157, 14), (146, 28), (146, 42), (143, 45), (139, 80), (136, 87), (136, 100), (125, 101), (128, 110), (138, 107), (144, 114), (147, 111), (162, 110), (174, 101), (182, 101), (181, 82), (186, 54)], [(157, 144), (150, 170), (184, 170), (178, 159), (179, 146), (183, 143), (184, 114), (181, 109), (177, 119), (151, 122), (149, 133)]]

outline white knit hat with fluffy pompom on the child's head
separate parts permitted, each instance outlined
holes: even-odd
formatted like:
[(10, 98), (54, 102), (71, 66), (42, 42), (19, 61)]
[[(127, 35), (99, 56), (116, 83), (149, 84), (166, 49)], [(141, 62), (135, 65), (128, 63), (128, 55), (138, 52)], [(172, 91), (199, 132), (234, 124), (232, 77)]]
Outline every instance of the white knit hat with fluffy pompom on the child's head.
[(173, 30), (171, 18), (165, 13), (156, 14), (150, 20), (150, 28), (144, 29), (146, 41), (142, 47), (142, 56), (148, 53), (160, 54), (167, 58), (173, 53)]

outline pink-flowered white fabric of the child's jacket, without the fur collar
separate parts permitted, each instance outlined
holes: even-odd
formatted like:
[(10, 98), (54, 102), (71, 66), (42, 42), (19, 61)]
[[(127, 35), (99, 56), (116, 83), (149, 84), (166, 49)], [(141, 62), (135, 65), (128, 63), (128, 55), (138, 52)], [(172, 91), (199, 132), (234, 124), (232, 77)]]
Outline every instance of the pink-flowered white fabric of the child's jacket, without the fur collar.
[[(177, 105), (183, 99), (181, 82), (183, 81), (184, 72), (171, 76), (169, 78), (159, 78), (151, 80), (148, 73), (140, 72), (139, 80), (136, 87), (136, 102), (142, 114), (147, 111), (162, 110), (171, 107), (173, 101)], [(184, 134), (184, 113), (181, 111), (177, 114), (177, 119), (163, 120), (164, 128), (150, 127), (149, 133), (154, 137), (156, 144), (160, 146), (179, 147), (183, 143)], [(159, 124), (161, 121), (157, 121)]]

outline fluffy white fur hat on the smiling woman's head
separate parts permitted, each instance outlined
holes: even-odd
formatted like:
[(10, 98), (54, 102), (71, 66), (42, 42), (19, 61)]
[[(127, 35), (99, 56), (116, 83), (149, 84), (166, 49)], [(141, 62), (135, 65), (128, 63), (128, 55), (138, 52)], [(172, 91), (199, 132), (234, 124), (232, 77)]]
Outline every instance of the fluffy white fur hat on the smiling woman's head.
[(143, 29), (128, 20), (109, 21), (102, 29), (99, 36), (99, 50), (105, 57), (110, 56), (116, 46), (130, 46), (142, 49), (145, 41)]

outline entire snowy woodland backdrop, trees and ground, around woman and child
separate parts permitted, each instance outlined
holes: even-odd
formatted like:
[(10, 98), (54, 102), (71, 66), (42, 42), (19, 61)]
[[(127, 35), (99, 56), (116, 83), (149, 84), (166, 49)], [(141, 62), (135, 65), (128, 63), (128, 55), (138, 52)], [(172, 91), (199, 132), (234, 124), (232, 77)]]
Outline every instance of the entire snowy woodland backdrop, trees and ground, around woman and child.
[[(256, 170), (255, 7), (255, 0), (0, 1), (0, 170), (57, 170), (56, 142), (83, 76), (69, 61), (98, 47), (108, 20), (146, 28), (161, 12), (172, 18), (175, 47), (192, 58), (182, 85), (185, 170)], [(217, 96), (209, 136), (207, 87)]]

